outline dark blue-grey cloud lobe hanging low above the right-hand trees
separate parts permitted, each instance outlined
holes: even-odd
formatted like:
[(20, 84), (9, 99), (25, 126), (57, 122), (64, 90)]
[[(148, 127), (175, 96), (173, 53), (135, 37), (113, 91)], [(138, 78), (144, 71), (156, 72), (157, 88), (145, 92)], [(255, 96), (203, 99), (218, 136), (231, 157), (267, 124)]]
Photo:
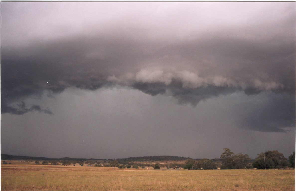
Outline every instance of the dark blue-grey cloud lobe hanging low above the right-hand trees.
[(295, 126), (295, 96), (263, 93), (258, 101), (241, 107), (244, 115), (237, 116), (240, 126), (263, 132), (285, 132)]

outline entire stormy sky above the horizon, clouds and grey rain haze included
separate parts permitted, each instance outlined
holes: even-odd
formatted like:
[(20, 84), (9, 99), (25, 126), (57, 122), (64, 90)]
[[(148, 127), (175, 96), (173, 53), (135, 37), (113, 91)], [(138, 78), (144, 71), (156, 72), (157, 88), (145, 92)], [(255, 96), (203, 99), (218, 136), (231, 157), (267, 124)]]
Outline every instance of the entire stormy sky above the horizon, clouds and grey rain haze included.
[(1, 153), (295, 151), (295, 2), (1, 2)]

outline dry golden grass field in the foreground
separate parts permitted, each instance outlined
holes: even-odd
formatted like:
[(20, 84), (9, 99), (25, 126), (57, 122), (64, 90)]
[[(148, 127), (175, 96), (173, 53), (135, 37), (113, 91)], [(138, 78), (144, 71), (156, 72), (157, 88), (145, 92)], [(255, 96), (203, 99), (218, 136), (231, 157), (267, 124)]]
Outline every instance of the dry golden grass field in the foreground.
[(295, 170), (154, 170), (1, 164), (1, 190), (294, 190)]

